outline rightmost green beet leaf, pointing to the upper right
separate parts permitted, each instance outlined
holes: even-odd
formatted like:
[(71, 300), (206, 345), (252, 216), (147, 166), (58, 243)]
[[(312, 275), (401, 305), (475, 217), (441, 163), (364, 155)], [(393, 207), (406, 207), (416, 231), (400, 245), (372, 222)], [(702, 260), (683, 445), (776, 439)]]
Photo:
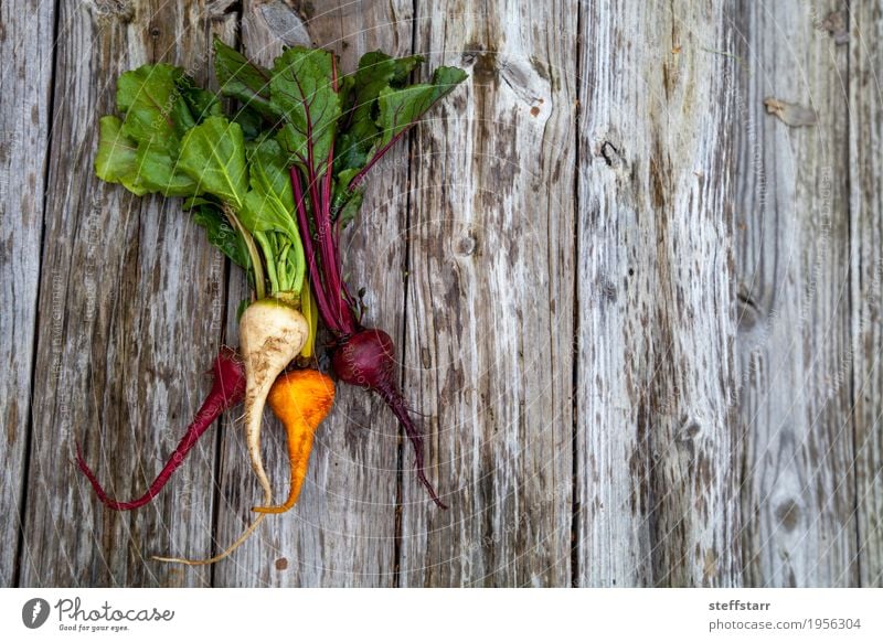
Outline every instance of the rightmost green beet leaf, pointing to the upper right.
[(377, 127), (380, 140), (374, 153), (385, 151), (385, 147), (414, 125), (436, 100), (449, 94), (454, 87), (467, 78), (466, 72), (457, 67), (438, 67), (433, 82), (412, 85), (402, 89), (386, 87), (377, 96), (380, 115)]

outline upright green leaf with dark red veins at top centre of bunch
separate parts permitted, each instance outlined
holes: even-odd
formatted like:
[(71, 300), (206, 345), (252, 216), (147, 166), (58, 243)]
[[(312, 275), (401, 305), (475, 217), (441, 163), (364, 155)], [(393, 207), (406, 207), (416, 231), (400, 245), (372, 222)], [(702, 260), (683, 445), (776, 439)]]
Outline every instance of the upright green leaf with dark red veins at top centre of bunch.
[(306, 167), (315, 178), (325, 173), (340, 117), (332, 55), (323, 50), (286, 50), (276, 58), (270, 79), (270, 103), (286, 121), (277, 140), (289, 161)]

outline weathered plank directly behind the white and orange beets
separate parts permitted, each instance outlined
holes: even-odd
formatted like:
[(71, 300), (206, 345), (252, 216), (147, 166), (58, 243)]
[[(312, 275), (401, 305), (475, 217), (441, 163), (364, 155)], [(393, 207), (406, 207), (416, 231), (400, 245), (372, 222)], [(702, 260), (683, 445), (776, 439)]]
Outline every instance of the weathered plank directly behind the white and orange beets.
[[(316, 14), (312, 6), (302, 3), (295, 13), (280, 2), (246, 2), (246, 52), (269, 64), (279, 41), (294, 44), (290, 39), (306, 30), (313, 44), (340, 54), (344, 71), (354, 69), (359, 56), (374, 49), (411, 53), (409, 1), (330, 2)], [(382, 164), (368, 181), (362, 218), (344, 233), (344, 271), (353, 290), (366, 289), (365, 322), (401, 336), (407, 146)], [(232, 311), (247, 296), (241, 276), (237, 271), (231, 279), (227, 334), (233, 344), (237, 330)], [(220, 564), (215, 586), (393, 585), (397, 429), (383, 404), (363, 390), (339, 385), (337, 395), (333, 413), (317, 435), (298, 505), (268, 520), (232, 561)], [(288, 480), (285, 440), (269, 411), (265, 421), (265, 463), (281, 496)], [(260, 499), (241, 432), (226, 429), (224, 435), (222, 546), (236, 538), (251, 520), (251, 502)]]

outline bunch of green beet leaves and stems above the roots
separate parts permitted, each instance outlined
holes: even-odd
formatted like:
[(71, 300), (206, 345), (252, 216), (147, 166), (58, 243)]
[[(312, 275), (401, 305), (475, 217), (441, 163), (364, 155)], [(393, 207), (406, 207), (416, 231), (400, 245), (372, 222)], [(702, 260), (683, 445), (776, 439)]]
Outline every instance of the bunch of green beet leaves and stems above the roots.
[(273, 69), (220, 40), (214, 54), (221, 95), (238, 105), (230, 116), (180, 67), (126, 72), (119, 116), (99, 120), (95, 172), (139, 196), (185, 197), (209, 240), (248, 270), (258, 297), (301, 298), (316, 257), (311, 239), (305, 254), (300, 214), (319, 222), (308, 226), (312, 233), (351, 221), (364, 174), (466, 74), (439, 67), (430, 83), (408, 85), (419, 56), (371, 52), (339, 78), (323, 50), (288, 49)]

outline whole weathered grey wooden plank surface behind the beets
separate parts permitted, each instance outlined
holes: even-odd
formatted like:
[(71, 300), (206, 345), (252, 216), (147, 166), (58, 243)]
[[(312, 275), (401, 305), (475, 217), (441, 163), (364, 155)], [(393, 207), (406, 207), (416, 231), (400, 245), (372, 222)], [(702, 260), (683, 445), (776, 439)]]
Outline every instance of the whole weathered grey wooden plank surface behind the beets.
[[(258, 497), (236, 417), (135, 513), (72, 452), (140, 491), (235, 343), (242, 274), (91, 171), (117, 75), (214, 35), (469, 72), (347, 239), (451, 509), (340, 388), (298, 506), (182, 568)], [(0, 67), (3, 586), (883, 585), (879, 3), (33, 0)]]

